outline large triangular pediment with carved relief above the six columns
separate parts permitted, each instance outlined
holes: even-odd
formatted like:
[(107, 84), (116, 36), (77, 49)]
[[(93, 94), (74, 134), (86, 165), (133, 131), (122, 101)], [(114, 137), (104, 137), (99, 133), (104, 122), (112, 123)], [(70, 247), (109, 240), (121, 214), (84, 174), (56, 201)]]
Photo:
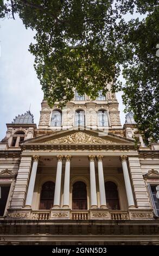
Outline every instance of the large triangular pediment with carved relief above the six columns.
[(134, 141), (123, 137), (107, 134), (103, 131), (90, 129), (71, 129), (67, 131), (53, 132), (51, 135), (43, 135), (24, 141), (28, 144), (113, 144), (134, 145)]

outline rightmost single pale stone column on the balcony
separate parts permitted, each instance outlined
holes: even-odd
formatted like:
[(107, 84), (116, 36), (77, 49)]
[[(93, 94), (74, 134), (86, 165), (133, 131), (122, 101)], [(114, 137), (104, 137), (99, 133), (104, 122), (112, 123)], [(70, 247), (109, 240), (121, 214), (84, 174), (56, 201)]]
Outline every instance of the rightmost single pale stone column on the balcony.
[(126, 196), (128, 199), (128, 206), (129, 208), (135, 208), (135, 203), (133, 200), (133, 194), (132, 194), (132, 188), (131, 188), (131, 182), (129, 177), (129, 171), (128, 166), (126, 163), (127, 156), (121, 156), (122, 161), (122, 167), (123, 167), (123, 174), (124, 174), (124, 181), (125, 181), (125, 188), (126, 188)]

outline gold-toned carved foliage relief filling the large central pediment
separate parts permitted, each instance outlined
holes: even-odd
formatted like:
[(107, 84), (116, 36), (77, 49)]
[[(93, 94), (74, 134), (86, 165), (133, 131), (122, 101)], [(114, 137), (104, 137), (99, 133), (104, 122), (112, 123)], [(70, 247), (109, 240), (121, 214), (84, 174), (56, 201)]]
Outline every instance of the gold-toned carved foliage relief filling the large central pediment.
[(107, 139), (95, 137), (93, 135), (87, 135), (84, 132), (76, 132), (72, 135), (67, 135), (62, 138), (52, 139), (51, 141), (45, 142), (46, 144), (116, 144)]

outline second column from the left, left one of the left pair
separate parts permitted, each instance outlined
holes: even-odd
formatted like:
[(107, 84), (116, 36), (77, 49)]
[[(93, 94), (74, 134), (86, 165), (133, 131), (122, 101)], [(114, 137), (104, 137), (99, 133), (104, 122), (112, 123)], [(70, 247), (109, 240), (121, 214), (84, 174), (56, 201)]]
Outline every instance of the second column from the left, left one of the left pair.
[(54, 194), (54, 206), (53, 208), (60, 208), (60, 196), (61, 196), (61, 175), (62, 175), (62, 160), (63, 156), (57, 155), (58, 165), (56, 170), (56, 182), (55, 182), (55, 194)]

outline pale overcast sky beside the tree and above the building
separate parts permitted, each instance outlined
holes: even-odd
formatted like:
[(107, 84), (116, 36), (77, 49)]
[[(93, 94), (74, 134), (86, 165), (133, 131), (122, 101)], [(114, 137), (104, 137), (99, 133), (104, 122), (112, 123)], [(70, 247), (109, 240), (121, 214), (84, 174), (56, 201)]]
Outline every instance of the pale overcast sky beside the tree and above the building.
[[(0, 27), (0, 140), (5, 136), (6, 124), (16, 115), (29, 110), (38, 125), (43, 93), (34, 70), (34, 57), (28, 51), (34, 33), (26, 29), (20, 19), (1, 20)], [(122, 93), (117, 93), (120, 118), (125, 122)]]

